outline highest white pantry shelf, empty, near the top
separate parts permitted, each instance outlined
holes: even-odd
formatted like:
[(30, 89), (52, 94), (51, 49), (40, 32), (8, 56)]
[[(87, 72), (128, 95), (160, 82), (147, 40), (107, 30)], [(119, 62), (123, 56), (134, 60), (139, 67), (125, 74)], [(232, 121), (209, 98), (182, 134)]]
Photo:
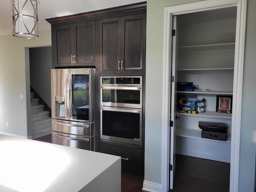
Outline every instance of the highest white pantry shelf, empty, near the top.
[(178, 52), (220, 50), (220, 49), (234, 49), (234, 48), (235, 48), (235, 43), (232, 42), (232, 43), (180, 46), (178, 47)]

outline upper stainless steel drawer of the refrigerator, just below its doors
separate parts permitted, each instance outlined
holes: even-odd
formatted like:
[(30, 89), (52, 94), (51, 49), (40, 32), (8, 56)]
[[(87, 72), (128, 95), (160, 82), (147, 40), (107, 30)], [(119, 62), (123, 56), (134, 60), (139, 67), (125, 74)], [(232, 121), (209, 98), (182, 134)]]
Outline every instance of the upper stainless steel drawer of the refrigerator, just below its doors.
[(52, 131), (72, 135), (88, 136), (94, 134), (93, 123), (72, 122), (66, 120), (52, 119)]

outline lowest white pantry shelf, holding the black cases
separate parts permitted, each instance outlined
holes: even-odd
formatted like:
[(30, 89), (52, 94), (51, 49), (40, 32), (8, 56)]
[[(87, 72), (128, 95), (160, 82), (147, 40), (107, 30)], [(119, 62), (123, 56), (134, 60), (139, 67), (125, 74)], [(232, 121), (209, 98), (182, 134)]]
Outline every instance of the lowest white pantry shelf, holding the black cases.
[(210, 141), (216, 141), (216, 142), (231, 142), (231, 134), (227, 133), (227, 140), (221, 141), (221, 140), (213, 140), (213, 139), (206, 139), (202, 138), (202, 129), (189, 129), (189, 128), (180, 128), (176, 127), (176, 135), (181, 137), (189, 137), (189, 138), (198, 138), (202, 140), (210, 140)]

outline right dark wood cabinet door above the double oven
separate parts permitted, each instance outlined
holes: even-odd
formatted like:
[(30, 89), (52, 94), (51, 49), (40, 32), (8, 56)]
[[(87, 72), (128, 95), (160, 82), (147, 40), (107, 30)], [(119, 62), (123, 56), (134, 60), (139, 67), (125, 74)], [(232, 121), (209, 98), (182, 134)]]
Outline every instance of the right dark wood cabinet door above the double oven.
[(146, 56), (146, 14), (122, 17), (122, 73), (142, 73)]

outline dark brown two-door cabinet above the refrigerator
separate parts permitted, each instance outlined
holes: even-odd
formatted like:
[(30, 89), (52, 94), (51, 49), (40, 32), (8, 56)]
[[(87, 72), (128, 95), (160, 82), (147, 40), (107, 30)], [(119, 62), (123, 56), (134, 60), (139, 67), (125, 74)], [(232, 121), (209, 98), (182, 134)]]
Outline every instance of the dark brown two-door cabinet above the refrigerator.
[(95, 21), (54, 26), (53, 63), (62, 66), (95, 66)]

